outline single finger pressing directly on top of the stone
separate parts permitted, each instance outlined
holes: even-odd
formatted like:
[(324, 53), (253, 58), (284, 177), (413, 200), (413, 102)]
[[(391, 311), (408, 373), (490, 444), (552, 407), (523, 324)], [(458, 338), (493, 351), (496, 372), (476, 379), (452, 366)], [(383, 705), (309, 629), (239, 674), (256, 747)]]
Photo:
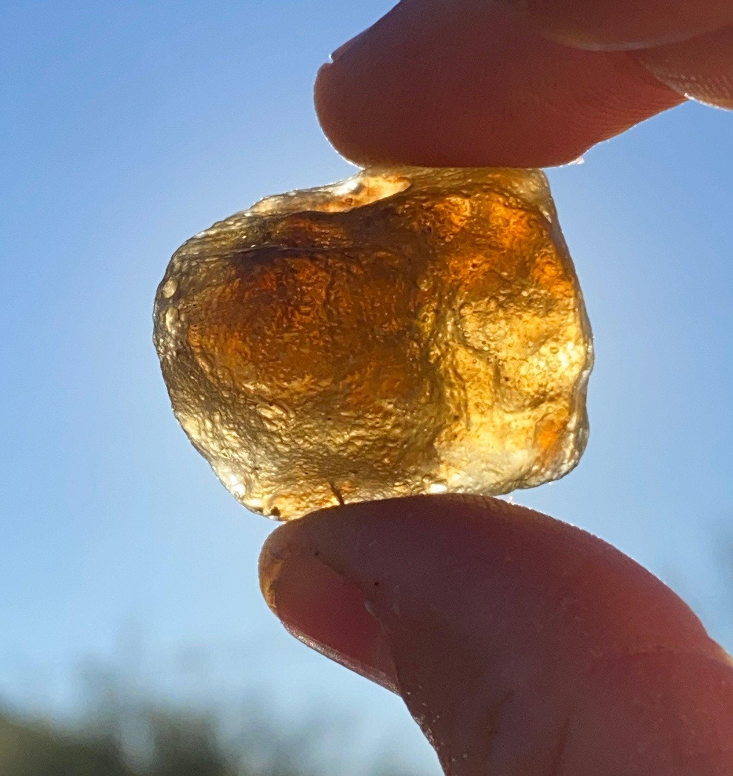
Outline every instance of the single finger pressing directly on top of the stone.
[(403, 0), (315, 85), (361, 165), (559, 165), (682, 101), (631, 54), (555, 43), (486, 0)]

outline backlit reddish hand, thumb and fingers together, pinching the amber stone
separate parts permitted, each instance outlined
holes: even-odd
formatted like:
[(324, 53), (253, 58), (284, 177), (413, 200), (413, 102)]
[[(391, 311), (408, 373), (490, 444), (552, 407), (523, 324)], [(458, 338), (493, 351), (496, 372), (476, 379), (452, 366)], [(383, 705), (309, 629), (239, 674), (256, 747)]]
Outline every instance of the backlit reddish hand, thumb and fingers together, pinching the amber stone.
[[(733, 107), (731, 0), (403, 0), (318, 74), (360, 164), (546, 166), (693, 96)], [(505, 501), (352, 504), (277, 528), (262, 592), (401, 695), (450, 776), (731, 776), (733, 661), (676, 594)]]

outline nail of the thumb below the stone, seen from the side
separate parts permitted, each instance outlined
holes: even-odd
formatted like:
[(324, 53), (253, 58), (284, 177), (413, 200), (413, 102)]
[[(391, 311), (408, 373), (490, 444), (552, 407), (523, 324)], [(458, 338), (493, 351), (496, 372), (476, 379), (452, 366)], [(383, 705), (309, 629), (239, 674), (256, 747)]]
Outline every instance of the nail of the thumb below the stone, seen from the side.
[(267, 542), (260, 557), (267, 605), (311, 649), (397, 692), (394, 663), (360, 588), (321, 562), (317, 551), (288, 553)]

